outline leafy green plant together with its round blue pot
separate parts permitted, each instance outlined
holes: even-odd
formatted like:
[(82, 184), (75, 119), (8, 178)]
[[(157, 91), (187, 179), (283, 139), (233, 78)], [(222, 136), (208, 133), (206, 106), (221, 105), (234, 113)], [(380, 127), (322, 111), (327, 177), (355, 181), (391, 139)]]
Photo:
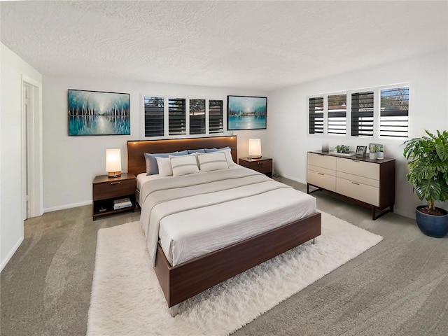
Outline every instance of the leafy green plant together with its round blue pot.
[(430, 237), (444, 237), (448, 233), (448, 211), (434, 204), (448, 200), (448, 132), (425, 132), (428, 137), (404, 143), (403, 155), (409, 168), (406, 179), (414, 186), (419, 200), (428, 202), (416, 208), (420, 230)]

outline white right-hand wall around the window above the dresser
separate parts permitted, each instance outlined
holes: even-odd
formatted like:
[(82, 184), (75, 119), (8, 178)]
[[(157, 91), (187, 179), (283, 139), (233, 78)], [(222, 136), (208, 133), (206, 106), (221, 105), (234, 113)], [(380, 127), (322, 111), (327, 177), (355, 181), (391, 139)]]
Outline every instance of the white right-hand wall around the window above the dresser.
[[(272, 122), (267, 131), (274, 170), (306, 183), (307, 151), (321, 149), (325, 142), (330, 149), (337, 144), (346, 144), (353, 149), (368, 146), (371, 142), (384, 144), (384, 155), (396, 160), (395, 212), (414, 218), (415, 207), (421, 201), (405, 178), (407, 165), (402, 156), (402, 139), (310, 136), (307, 134), (307, 96), (409, 83), (409, 137), (421, 137), (425, 129), (430, 132), (448, 130), (447, 59), (447, 50), (444, 50), (271, 92), (268, 118)], [(447, 202), (438, 206), (448, 209)]]

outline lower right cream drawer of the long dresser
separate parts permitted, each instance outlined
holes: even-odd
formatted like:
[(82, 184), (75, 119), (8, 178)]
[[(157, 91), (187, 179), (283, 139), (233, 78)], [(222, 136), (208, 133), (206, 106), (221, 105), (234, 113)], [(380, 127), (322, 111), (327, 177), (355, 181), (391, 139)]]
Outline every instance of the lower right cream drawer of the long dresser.
[(336, 193), (379, 207), (379, 188), (338, 177), (336, 179)]

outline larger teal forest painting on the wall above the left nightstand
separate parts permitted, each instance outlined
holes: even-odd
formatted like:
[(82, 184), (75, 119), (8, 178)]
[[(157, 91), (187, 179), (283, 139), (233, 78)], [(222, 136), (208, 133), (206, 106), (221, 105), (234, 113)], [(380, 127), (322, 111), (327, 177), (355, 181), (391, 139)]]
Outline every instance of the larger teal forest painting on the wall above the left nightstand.
[(69, 135), (129, 135), (130, 94), (69, 90)]

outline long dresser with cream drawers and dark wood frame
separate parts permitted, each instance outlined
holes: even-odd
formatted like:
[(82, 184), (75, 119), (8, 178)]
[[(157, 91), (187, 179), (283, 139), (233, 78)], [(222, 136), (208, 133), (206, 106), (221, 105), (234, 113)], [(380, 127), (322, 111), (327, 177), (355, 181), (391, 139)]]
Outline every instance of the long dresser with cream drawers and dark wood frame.
[[(317, 188), (310, 191), (310, 186)], [(395, 159), (341, 157), (307, 153), (307, 193), (326, 190), (372, 209), (372, 219), (393, 212)], [(377, 214), (377, 210), (380, 211)]]

